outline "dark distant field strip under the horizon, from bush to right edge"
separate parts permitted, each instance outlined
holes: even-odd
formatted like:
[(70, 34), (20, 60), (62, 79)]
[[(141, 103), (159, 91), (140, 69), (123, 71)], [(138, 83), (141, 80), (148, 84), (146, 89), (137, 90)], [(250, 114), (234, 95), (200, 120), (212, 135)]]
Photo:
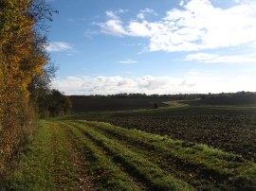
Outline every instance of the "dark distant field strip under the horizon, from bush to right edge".
[(73, 113), (127, 111), (152, 109), (167, 106), (256, 106), (256, 96), (223, 96), (206, 97), (192, 100), (175, 100), (174, 98), (152, 97), (85, 97), (69, 96), (73, 103)]

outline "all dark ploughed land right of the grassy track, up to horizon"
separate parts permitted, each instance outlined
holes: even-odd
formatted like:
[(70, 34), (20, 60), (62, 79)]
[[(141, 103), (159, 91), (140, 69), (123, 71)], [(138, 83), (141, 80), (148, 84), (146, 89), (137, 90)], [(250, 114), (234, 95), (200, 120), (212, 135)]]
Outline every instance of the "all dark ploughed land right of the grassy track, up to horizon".
[[(88, 111), (95, 113), (79, 113), (82, 110), (76, 108), (79, 105), (75, 103), (77, 119), (105, 121), (127, 129), (168, 135), (174, 139), (232, 151), (256, 161), (256, 96), (192, 101), (158, 98), (90, 98), (86, 101)], [(83, 103), (86, 101), (81, 100)], [(153, 110), (156, 101), (165, 107)], [(169, 105), (162, 105), (162, 101)], [(104, 112), (111, 111), (112, 106), (113, 112)], [(147, 110), (128, 110), (129, 107), (141, 109), (143, 106), (147, 106)], [(82, 107), (86, 107), (86, 104)]]

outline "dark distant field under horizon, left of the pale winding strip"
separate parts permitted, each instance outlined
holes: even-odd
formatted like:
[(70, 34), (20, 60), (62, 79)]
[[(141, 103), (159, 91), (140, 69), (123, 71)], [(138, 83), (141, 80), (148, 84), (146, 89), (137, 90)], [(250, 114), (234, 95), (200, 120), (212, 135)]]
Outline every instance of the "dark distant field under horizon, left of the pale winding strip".
[(86, 98), (83, 96), (69, 97), (73, 103), (73, 113), (152, 109), (155, 103), (158, 107), (162, 107), (167, 106), (163, 102), (170, 100), (170, 98)]

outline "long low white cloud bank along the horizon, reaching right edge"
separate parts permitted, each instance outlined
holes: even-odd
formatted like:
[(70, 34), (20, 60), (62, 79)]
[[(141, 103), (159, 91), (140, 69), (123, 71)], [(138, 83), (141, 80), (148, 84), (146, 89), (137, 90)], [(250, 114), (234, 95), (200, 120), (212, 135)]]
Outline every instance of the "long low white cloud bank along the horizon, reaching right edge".
[(152, 77), (122, 78), (68, 77), (55, 79), (53, 88), (66, 95), (111, 95), (120, 93), (180, 94), (180, 93), (220, 93), (256, 91), (256, 76), (241, 74), (235, 78), (204, 76), (187, 73), (181, 78)]

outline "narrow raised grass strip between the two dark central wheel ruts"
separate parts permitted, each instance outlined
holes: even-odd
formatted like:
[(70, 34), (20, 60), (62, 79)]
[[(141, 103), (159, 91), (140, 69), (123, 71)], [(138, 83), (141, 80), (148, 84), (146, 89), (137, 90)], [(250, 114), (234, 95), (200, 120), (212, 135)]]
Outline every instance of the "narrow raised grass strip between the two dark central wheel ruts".
[(118, 158), (120, 163), (129, 166), (134, 170), (137, 176), (140, 176), (145, 182), (149, 182), (158, 190), (192, 190), (192, 187), (185, 182), (174, 179), (157, 165), (141, 157), (129, 148), (125, 148), (117, 142), (108, 139), (101, 133), (93, 130), (89, 126), (78, 126), (86, 135), (96, 141), (101, 147), (108, 150), (114, 157)]

